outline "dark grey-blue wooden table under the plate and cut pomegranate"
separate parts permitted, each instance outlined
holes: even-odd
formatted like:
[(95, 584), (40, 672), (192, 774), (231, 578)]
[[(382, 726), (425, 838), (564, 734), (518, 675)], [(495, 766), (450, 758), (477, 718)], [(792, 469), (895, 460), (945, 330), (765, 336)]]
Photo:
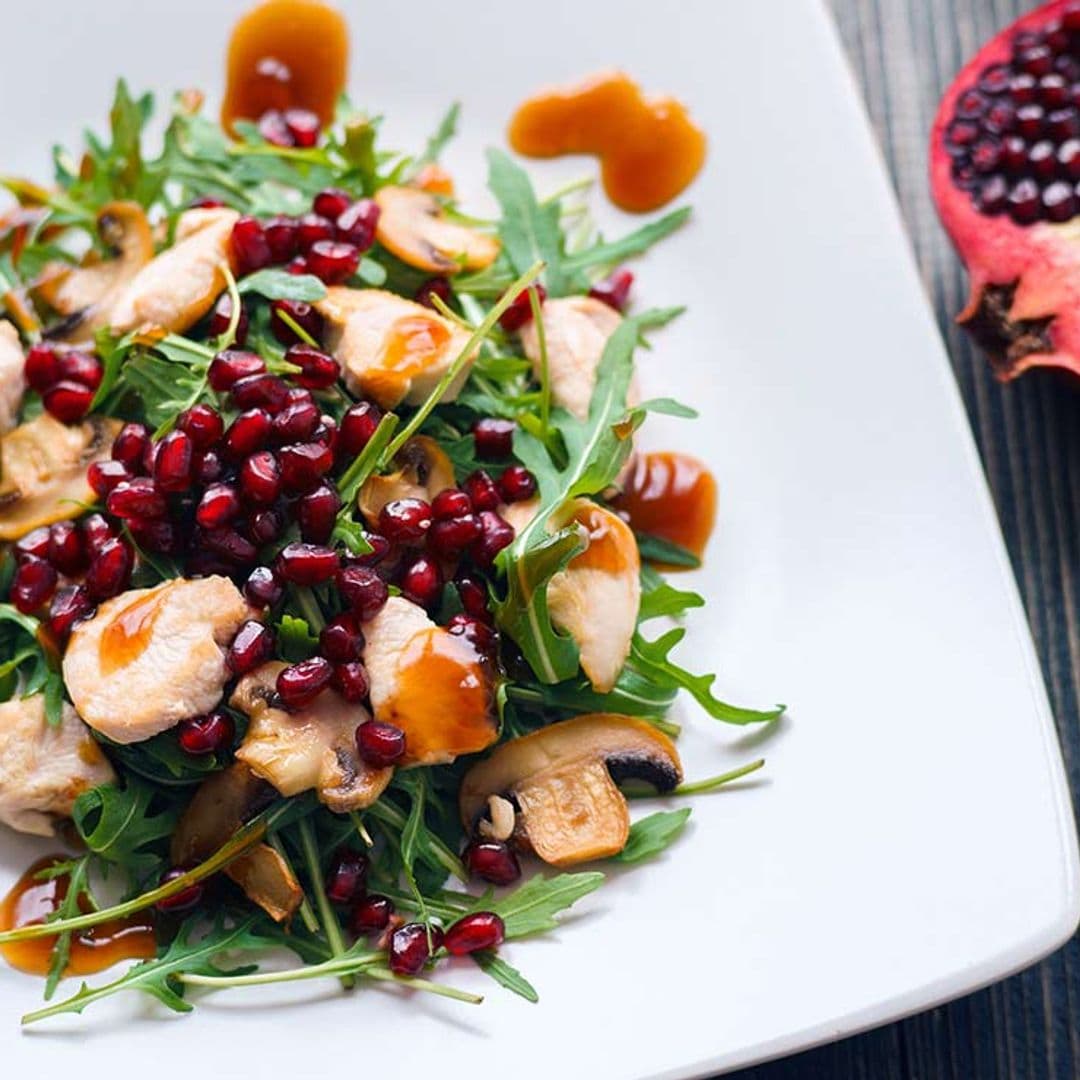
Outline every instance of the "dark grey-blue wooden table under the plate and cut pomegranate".
[[(964, 275), (937, 224), (926, 180), (927, 133), (942, 91), (987, 38), (1035, 3), (831, 3), (900, 194), (994, 490), (1076, 800), (1080, 793), (1080, 390), (1048, 374), (1008, 387), (990, 377), (982, 356), (953, 325), (967, 294)], [(866, 345), (874, 347), (873, 341)], [(1080, 1077), (1080, 944), (1074, 939), (1043, 963), (981, 994), (738, 1076), (743, 1080), (1072, 1080)]]

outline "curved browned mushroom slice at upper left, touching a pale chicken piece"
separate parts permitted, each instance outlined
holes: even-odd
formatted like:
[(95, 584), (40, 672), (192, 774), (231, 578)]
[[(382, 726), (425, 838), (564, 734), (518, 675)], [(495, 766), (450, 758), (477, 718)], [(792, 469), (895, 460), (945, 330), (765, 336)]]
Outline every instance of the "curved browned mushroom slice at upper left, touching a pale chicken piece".
[(153, 258), (150, 222), (138, 203), (111, 202), (97, 215), (97, 231), (113, 258), (81, 267), (51, 264), (35, 293), (64, 321), (50, 336), (90, 341), (109, 321), (113, 302)]

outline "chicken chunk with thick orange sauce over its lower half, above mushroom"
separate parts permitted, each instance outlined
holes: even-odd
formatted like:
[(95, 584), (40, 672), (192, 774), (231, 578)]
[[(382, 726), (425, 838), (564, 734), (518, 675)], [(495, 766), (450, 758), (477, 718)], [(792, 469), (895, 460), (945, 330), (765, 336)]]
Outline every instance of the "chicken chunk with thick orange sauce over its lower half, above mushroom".
[(402, 596), (364, 624), (364, 637), (372, 710), (405, 732), (403, 765), (453, 761), (495, 742), (494, 674), (467, 638)]

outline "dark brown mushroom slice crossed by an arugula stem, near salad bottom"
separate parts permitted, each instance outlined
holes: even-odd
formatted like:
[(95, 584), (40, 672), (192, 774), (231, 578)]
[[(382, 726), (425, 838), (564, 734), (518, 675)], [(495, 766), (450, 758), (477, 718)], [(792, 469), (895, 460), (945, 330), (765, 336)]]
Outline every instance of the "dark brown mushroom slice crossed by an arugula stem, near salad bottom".
[[(273, 799), (273, 788), (238, 761), (214, 773), (195, 792), (173, 834), (176, 866), (208, 859)], [(303, 890), (288, 863), (268, 843), (234, 859), (225, 873), (276, 922), (300, 906)]]

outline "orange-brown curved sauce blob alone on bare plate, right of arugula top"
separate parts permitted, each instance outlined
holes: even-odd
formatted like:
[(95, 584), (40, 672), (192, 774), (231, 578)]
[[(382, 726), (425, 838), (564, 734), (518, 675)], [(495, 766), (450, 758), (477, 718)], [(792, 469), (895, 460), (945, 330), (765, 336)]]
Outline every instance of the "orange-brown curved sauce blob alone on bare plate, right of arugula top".
[(510, 121), (509, 137), (529, 158), (596, 154), (608, 198), (635, 212), (671, 202), (705, 161), (704, 132), (686, 106), (643, 94), (621, 71), (530, 97)]

